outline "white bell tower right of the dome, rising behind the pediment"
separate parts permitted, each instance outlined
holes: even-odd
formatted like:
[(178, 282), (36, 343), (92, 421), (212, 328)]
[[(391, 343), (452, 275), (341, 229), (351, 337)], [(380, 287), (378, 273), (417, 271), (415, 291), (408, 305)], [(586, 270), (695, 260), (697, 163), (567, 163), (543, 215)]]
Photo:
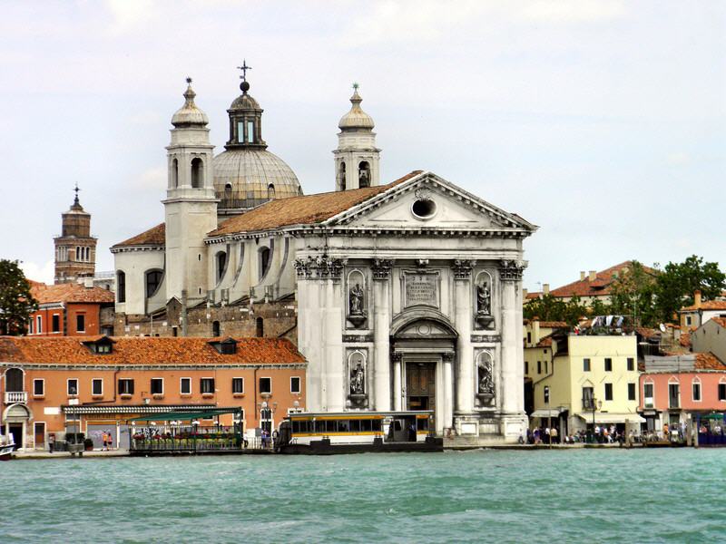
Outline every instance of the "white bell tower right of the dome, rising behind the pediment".
[(375, 123), (360, 108), (360, 102), (363, 99), (358, 94), (358, 83), (353, 83), (350, 111), (338, 122), (338, 149), (333, 151), (336, 190), (362, 189), (380, 183)]

